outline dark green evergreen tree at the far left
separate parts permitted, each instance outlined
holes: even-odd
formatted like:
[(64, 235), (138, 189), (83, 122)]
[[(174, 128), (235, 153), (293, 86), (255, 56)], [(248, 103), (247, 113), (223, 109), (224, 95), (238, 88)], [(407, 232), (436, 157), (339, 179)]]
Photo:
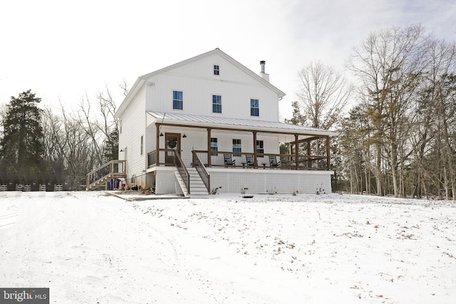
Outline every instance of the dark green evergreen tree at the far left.
[(14, 166), (17, 178), (24, 181), (35, 178), (43, 160), (40, 102), (41, 98), (37, 98), (31, 90), (20, 93), (17, 98), (11, 96), (3, 117), (4, 137), (0, 140), (0, 158)]

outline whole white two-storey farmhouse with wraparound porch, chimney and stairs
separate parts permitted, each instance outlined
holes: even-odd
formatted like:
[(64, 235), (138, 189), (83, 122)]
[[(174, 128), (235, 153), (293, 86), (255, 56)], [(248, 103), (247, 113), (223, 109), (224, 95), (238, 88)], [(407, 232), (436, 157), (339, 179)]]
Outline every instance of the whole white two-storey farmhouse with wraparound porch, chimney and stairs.
[(185, 196), (331, 192), (336, 133), (279, 122), (285, 93), (260, 65), (257, 75), (216, 48), (139, 77), (115, 114), (119, 161), (90, 172), (88, 189), (121, 178)]

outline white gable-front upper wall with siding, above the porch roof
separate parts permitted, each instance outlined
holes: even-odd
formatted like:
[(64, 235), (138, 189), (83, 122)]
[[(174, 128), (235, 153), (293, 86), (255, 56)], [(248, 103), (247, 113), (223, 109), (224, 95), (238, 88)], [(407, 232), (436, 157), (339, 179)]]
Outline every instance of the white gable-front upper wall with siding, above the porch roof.
[[(220, 75), (213, 75), (213, 65)], [(214, 54), (147, 79), (147, 110), (223, 115), (244, 119), (279, 121), (277, 95), (259, 80)], [(153, 85), (152, 85), (153, 83)], [(172, 91), (182, 91), (183, 109), (172, 109)], [(222, 114), (212, 112), (212, 95), (222, 96)], [(259, 100), (259, 116), (250, 115), (250, 100)]]

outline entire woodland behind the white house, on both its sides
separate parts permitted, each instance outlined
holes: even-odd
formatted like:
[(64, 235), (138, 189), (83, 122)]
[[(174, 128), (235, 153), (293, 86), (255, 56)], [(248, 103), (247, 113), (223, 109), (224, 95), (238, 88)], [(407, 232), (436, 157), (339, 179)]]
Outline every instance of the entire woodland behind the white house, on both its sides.
[[(351, 81), (320, 61), (299, 70), (286, 120), (339, 132), (331, 139), (333, 190), (455, 199), (455, 41), (419, 24), (385, 28), (353, 49), (346, 68)], [(96, 102), (83, 98), (76, 112), (63, 105), (58, 113), (41, 110), (40, 102), (28, 90), (0, 111), (1, 183), (76, 187), (90, 170), (117, 159), (108, 89)], [(314, 141), (312, 153), (325, 153), (324, 144)]]

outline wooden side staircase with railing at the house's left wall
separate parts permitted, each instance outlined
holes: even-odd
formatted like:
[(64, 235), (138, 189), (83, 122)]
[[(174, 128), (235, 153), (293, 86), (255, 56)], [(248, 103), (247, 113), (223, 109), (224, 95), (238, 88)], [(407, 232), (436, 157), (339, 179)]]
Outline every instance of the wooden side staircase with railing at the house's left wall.
[(103, 166), (89, 172), (86, 177), (86, 190), (95, 190), (106, 187), (114, 179), (125, 179), (125, 160), (111, 160)]

